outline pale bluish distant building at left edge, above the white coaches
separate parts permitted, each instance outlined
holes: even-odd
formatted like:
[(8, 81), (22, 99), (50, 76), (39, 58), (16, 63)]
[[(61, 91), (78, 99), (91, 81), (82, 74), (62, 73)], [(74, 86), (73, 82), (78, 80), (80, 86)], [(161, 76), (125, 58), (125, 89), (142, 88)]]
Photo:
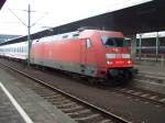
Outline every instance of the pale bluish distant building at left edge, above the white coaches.
[(0, 43), (2, 42), (7, 42), (7, 41), (10, 41), (12, 38), (16, 38), (16, 37), (20, 37), (21, 35), (6, 35), (6, 34), (0, 34)]

